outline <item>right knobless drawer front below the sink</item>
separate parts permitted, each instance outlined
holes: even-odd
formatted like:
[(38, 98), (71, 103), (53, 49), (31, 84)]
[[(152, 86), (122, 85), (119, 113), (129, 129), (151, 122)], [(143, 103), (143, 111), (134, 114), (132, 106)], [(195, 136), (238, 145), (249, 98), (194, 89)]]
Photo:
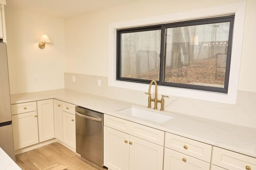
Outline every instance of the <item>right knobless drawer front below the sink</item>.
[(155, 128), (140, 125), (138, 123), (130, 123), (130, 134), (149, 142), (164, 146), (164, 131)]

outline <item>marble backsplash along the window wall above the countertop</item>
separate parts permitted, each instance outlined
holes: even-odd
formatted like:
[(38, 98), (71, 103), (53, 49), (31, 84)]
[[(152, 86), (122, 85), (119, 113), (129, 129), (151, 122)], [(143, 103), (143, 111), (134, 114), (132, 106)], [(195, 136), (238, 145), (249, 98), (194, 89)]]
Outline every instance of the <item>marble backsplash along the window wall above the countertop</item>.
[[(73, 76), (75, 76), (75, 82), (72, 81)], [(98, 79), (101, 81), (101, 86), (98, 86)], [(65, 73), (65, 88), (139, 105), (148, 105), (148, 95), (144, 94), (148, 89), (137, 91), (108, 86), (108, 77)], [(158, 98), (160, 98), (160, 95), (158, 94)], [(169, 94), (163, 95), (169, 96), (165, 99), (165, 110), (256, 128), (255, 92), (238, 91), (236, 105), (177, 97)]]

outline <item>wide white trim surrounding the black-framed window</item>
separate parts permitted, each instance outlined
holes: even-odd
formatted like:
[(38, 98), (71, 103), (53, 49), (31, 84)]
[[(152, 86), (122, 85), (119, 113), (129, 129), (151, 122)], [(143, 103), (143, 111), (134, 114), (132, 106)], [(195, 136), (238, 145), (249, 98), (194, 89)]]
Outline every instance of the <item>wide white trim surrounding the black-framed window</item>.
[[(117, 51), (118, 49), (117, 32), (118, 31), (124, 30), (126, 28), (128, 30), (130, 28), (143, 28), (144, 26), (150, 26), (150, 25), (152, 26), (152, 25), (158, 25), (158, 24), (177, 23), (177, 22), (189, 21), (189, 20), (195, 21), (199, 19), (214, 18), (216, 16), (227, 16), (227, 15), (235, 16), (234, 25), (233, 25), (234, 31), (232, 35), (232, 44), (231, 42), (228, 44), (230, 49), (232, 47), (231, 59), (230, 59), (231, 60), (230, 71), (229, 71), (229, 78), (228, 78), (229, 79), (228, 93), (225, 93), (225, 92), (216, 93), (214, 91), (177, 88), (177, 87), (171, 87), (171, 86), (165, 86), (165, 85), (158, 86), (158, 93), (174, 96), (174, 97), (181, 97), (181, 98), (178, 98), (181, 100), (186, 98), (191, 98), (191, 99), (199, 99), (203, 101), (213, 101), (218, 103), (228, 103), (228, 104), (235, 105), (237, 94), (238, 94), (237, 92), (238, 92), (238, 84), (239, 84), (240, 64), (242, 59), (244, 24), (245, 24), (245, 17), (246, 17), (246, 2), (212, 6), (212, 7), (201, 8), (196, 10), (182, 11), (178, 13), (170, 13), (170, 14), (164, 14), (159, 16), (152, 16), (148, 18), (140, 18), (140, 19), (110, 23), (109, 30), (108, 30), (109, 31), (108, 85), (111, 87), (118, 87), (122, 89), (136, 90), (136, 91), (131, 91), (132, 92), (131, 97), (138, 98), (138, 101), (137, 101), (138, 103), (140, 100), (142, 100), (142, 96), (143, 96), (142, 94), (148, 91), (148, 84), (147, 84), (148, 82), (138, 83), (139, 81), (137, 79), (136, 81), (125, 80), (126, 76), (119, 77), (118, 79), (118, 74), (120, 75), (120, 72), (118, 73), (118, 67), (119, 67), (118, 65), (120, 61), (117, 61), (118, 59), (117, 58), (117, 52), (118, 52)], [(217, 31), (218, 29), (219, 28), (217, 28)], [(186, 55), (187, 54), (184, 53), (184, 56)]]

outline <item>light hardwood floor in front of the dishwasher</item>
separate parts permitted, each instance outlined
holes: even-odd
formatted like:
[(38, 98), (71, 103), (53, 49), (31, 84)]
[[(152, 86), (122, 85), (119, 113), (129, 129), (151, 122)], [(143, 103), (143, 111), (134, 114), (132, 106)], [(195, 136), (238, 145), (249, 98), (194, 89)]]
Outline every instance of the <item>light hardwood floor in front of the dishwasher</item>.
[(22, 170), (43, 170), (54, 164), (68, 166), (66, 170), (106, 170), (58, 142), (16, 155), (16, 164)]

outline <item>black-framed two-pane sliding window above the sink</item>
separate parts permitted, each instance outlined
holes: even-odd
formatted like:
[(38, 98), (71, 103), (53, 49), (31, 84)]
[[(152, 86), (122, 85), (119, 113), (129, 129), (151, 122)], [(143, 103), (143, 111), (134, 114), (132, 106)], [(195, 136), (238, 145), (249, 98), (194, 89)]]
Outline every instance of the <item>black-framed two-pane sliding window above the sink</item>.
[(228, 93), (234, 15), (117, 30), (116, 79)]

